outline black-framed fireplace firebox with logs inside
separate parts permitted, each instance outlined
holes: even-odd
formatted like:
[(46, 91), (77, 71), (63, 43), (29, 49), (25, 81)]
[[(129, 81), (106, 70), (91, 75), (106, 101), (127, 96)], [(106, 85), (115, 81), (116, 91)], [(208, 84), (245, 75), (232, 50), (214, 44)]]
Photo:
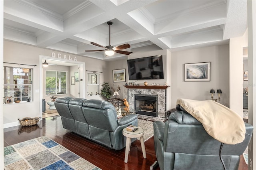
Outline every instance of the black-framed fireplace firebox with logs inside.
[(140, 115), (158, 117), (158, 96), (134, 94), (134, 106)]

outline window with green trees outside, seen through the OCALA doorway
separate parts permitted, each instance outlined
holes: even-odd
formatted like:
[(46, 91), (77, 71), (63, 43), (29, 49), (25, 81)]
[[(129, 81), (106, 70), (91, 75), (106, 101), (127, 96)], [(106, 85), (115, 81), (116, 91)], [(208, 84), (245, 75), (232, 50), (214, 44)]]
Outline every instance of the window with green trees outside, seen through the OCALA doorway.
[(46, 95), (67, 93), (67, 72), (46, 70)]

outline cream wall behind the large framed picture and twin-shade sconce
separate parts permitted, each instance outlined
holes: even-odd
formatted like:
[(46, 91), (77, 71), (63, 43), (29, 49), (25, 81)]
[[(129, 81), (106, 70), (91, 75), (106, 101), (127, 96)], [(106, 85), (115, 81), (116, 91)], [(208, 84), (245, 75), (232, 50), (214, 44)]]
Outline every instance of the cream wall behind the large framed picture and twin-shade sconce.
[[(222, 90), (221, 104), (229, 107), (228, 45), (211, 46), (172, 52), (172, 108), (179, 98), (211, 100), (210, 89)], [(211, 62), (210, 81), (184, 81), (184, 64)]]

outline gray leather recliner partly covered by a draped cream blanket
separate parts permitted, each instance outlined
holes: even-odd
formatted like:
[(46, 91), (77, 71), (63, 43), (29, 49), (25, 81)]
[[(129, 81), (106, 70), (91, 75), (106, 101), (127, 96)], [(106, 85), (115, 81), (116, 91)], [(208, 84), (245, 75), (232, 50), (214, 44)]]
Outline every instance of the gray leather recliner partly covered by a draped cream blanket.
[[(221, 142), (215, 140), (190, 114), (177, 105), (168, 120), (154, 122), (154, 146), (161, 170), (224, 170), (220, 160)], [(246, 126), (245, 140), (224, 144), (221, 157), (227, 170), (238, 170), (240, 155), (248, 146), (253, 127)]]

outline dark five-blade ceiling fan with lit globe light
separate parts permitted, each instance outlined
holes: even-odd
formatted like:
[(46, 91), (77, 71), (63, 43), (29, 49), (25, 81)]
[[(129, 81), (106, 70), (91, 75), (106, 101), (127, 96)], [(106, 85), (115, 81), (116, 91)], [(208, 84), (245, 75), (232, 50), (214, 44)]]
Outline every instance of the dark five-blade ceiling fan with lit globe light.
[(98, 47), (102, 47), (105, 49), (99, 49), (99, 50), (85, 50), (85, 51), (105, 51), (106, 55), (111, 56), (114, 55), (114, 53), (120, 53), (120, 54), (125, 54), (125, 55), (130, 55), (132, 52), (129, 51), (122, 51), (120, 49), (126, 49), (126, 48), (130, 48), (130, 44), (126, 43), (126, 44), (122, 44), (122, 45), (118, 45), (116, 47), (110, 45), (110, 26), (113, 24), (112, 22), (107, 22), (107, 24), (109, 25), (109, 45), (104, 47), (102, 45), (99, 45), (97, 43), (91, 42), (92, 45), (96, 45)]

